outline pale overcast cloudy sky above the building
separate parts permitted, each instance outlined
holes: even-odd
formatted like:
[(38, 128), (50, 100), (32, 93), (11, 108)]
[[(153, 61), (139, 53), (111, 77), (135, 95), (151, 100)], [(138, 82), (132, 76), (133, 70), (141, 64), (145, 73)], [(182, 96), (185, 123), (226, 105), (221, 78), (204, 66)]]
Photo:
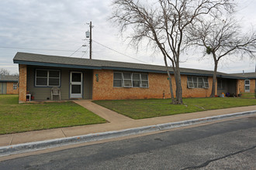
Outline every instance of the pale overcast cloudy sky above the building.
[[(237, 0), (238, 1), (238, 0)], [(88, 58), (88, 22), (92, 21), (92, 59), (164, 65), (161, 53), (147, 46), (129, 46), (119, 29), (109, 21), (112, 0), (1, 0), (0, 69), (19, 73), (12, 59), (17, 52)], [(237, 3), (237, 19), (243, 29), (256, 29), (256, 1)], [(84, 45), (84, 46), (83, 46)], [(74, 53), (76, 52), (76, 53)], [(181, 67), (213, 70), (211, 57), (201, 52), (182, 56)], [(245, 73), (255, 71), (255, 59), (221, 59), (218, 71)]]

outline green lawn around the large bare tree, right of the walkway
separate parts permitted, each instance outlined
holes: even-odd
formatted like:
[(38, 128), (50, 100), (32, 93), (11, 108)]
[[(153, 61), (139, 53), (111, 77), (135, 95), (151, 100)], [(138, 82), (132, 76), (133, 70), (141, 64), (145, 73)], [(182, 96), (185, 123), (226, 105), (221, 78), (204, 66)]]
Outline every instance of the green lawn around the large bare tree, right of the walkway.
[(171, 100), (169, 99), (95, 100), (93, 102), (133, 119), (256, 105), (255, 99), (244, 99), (237, 97), (184, 98), (183, 101), (183, 105), (170, 104)]

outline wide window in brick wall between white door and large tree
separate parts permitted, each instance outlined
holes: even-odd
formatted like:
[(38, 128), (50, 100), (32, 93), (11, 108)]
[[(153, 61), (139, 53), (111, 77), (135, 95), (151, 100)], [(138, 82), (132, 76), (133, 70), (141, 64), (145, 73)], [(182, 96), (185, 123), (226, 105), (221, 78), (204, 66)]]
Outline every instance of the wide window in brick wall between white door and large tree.
[(113, 87), (148, 87), (146, 73), (114, 72)]

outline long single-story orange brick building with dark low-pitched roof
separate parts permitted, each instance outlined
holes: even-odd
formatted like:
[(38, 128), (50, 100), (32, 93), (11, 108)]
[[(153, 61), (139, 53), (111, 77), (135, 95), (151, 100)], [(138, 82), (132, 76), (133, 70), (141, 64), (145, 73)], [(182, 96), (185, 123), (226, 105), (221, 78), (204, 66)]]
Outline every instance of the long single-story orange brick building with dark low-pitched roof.
[[(51, 100), (52, 87), (61, 91), (61, 100), (170, 97), (165, 66), (33, 53), (16, 53), (13, 62), (19, 64), (19, 102), (25, 102), (27, 95)], [(213, 71), (181, 68), (181, 76), (183, 97), (209, 97)], [(254, 92), (255, 79), (256, 73), (218, 72), (216, 95)]]

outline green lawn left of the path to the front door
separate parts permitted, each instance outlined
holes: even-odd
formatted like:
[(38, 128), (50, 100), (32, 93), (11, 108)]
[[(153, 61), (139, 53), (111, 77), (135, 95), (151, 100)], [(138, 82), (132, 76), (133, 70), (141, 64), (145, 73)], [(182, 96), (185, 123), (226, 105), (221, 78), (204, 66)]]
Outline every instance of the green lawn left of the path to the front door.
[(105, 122), (73, 102), (18, 104), (17, 95), (0, 95), (0, 134)]

